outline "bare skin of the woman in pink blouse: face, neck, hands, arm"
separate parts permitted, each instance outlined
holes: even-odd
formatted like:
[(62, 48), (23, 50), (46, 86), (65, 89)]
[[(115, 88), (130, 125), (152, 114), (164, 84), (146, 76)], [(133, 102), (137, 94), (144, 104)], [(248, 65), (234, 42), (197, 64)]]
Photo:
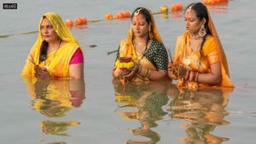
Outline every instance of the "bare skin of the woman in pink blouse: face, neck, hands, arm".
[[(54, 52), (57, 49), (60, 49), (62, 46), (64, 46), (67, 42), (62, 41), (61, 38), (57, 35), (55, 32), (54, 27), (51, 25), (50, 21), (47, 18), (44, 18), (44, 20), (41, 23), (40, 26), (42, 37), (46, 42), (49, 43), (47, 54)], [(40, 66), (35, 66), (35, 75), (37, 78), (40, 79), (49, 79), (49, 72), (48, 70)], [(43, 70), (43, 71), (42, 71)], [(69, 66), (69, 76), (70, 78), (84, 78), (84, 64), (73, 64)]]

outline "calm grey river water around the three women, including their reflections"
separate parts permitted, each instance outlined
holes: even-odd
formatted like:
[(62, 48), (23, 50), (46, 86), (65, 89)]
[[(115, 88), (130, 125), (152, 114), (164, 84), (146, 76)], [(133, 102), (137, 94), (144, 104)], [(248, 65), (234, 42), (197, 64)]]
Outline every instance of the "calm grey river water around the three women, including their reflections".
[[(11, 34), (0, 37), (1, 143), (254, 143), (254, 0), (209, 7), (235, 89), (190, 91), (173, 84), (123, 86), (112, 81), (115, 54), (107, 53), (118, 48), (131, 21), (102, 20), (105, 14), (141, 6), (157, 12), (162, 5), (192, 2), (197, 1), (3, 0), (17, 3), (18, 9), (0, 9), (0, 35)], [(34, 83), (20, 78), (38, 37), (33, 31), (38, 30), (40, 16), (50, 11), (63, 20), (100, 20), (71, 29), (84, 49), (84, 81)], [(176, 38), (184, 31), (183, 13), (154, 14), (154, 20), (166, 48), (174, 53)]]

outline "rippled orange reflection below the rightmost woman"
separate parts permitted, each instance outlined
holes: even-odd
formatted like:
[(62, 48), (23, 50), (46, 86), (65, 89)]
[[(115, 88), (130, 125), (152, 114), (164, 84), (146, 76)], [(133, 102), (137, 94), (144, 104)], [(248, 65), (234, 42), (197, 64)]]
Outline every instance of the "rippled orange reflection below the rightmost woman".
[[(178, 90), (178, 91), (177, 91)], [(233, 89), (177, 89), (175, 93), (168, 91), (172, 101), (170, 108), (171, 118), (181, 119), (191, 124), (181, 124), (186, 129), (188, 138), (181, 138), (185, 143), (219, 144), (228, 138), (211, 135), (218, 125), (227, 125), (224, 121), (228, 112), (224, 110)]]

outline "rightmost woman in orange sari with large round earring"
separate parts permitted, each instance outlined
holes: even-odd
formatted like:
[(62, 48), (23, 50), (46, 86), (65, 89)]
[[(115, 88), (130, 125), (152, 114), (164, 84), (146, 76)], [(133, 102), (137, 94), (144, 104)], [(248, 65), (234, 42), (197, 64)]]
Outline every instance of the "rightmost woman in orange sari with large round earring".
[(168, 75), (177, 86), (197, 89), (205, 86), (233, 87), (224, 49), (207, 7), (191, 3), (185, 12), (186, 32), (177, 37)]

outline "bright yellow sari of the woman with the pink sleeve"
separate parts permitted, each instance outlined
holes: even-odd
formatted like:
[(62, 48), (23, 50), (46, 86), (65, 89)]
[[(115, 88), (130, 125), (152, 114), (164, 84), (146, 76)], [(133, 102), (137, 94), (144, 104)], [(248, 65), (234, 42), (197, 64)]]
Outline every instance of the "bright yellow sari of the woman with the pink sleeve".
[[(50, 21), (51, 25), (54, 27), (55, 32), (61, 38), (62, 41), (67, 42), (64, 46), (53, 51), (52, 53), (47, 55), (47, 59), (43, 62), (39, 63), (39, 57), (41, 52), (41, 45), (44, 41), (41, 34), (41, 23), (43, 21), (43, 16), (39, 23), (38, 30), (38, 40), (32, 46), (30, 50), (30, 55), (28, 55), (26, 59), (26, 65), (24, 66), (23, 72), (21, 76), (32, 75), (34, 76), (34, 64), (31, 62), (33, 59), (36, 65), (41, 67), (47, 66), (49, 67), (49, 76), (50, 77), (69, 77), (69, 62), (77, 49), (80, 49), (83, 53), (83, 49), (80, 48), (79, 43), (74, 39), (72, 33), (69, 31), (67, 26), (61, 20), (61, 17), (55, 13), (46, 13), (44, 16)], [(32, 55), (32, 56), (31, 56)], [(84, 53), (83, 53), (84, 55)]]

